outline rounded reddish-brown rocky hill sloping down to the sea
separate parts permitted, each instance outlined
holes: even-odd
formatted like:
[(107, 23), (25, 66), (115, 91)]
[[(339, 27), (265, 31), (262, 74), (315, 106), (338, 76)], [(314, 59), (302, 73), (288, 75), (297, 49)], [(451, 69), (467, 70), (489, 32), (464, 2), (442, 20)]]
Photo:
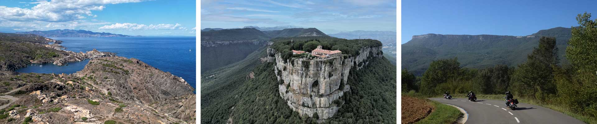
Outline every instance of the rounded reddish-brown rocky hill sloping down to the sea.
[(95, 92), (111, 94), (118, 100), (140, 103), (180, 120), (195, 116), (195, 89), (189, 83), (136, 58), (96, 58), (73, 75), (94, 77), (103, 82), (94, 85)]

